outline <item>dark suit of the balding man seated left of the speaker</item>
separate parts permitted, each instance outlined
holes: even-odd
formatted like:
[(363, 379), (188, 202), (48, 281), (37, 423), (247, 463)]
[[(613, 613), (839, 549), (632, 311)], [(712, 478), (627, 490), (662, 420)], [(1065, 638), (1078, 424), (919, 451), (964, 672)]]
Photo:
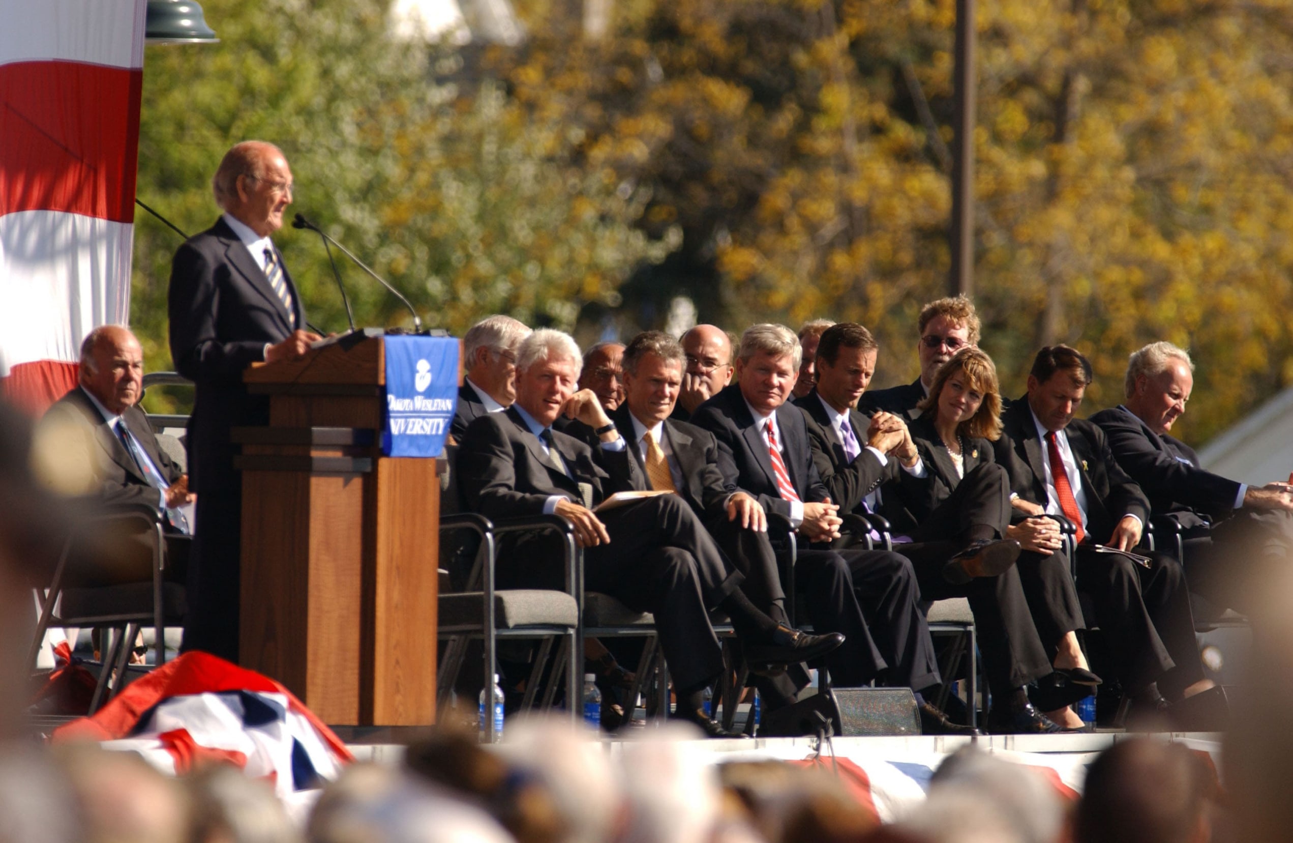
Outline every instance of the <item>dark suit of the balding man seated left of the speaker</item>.
[[(180, 480), (184, 471), (158, 445), (156, 436), (153, 433), (153, 427), (144, 411), (138, 407), (128, 407), (122, 414), (122, 420), (134, 436), (134, 441), (153, 460), (162, 477), (168, 484)], [(100, 503), (103, 504), (107, 513), (116, 508), (149, 508), (153, 511), (159, 508), (160, 491), (149, 482), (144, 469), (122, 445), (122, 440), (107, 425), (103, 414), (98, 411), (83, 388), (76, 387), (56, 401), (45, 411), (40, 427), (57, 431), (56, 436), (59, 442), (66, 442), (67, 447), (76, 449), (75, 456), (65, 456), (84, 460), (93, 467), (94, 478), (100, 484)], [(168, 533), (175, 531), (168, 528)], [(78, 571), (78, 577), (70, 582), (81, 586), (98, 586), (147, 579), (153, 575), (153, 543), (146, 537), (138, 535), (134, 528), (123, 530), (119, 537), (112, 537), (110, 543), (114, 550), (120, 548), (122, 553), (114, 553), (114, 559), (103, 565), (96, 564), (93, 570)], [(177, 538), (168, 540), (168, 552), (167, 577), (175, 582), (182, 582), (189, 557), (187, 537), (177, 534)]]

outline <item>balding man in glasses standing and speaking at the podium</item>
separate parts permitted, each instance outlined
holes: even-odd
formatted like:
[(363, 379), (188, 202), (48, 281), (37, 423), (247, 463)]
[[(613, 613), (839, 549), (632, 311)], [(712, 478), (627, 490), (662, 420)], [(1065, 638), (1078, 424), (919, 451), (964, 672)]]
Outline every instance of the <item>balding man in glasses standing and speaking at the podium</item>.
[(182, 649), (237, 662), (242, 477), (230, 429), (269, 423), (268, 397), (248, 394), (243, 372), (301, 357), (319, 336), (304, 330), (301, 299), (269, 239), (292, 202), (283, 153), (262, 141), (237, 144), (211, 186), (224, 213), (189, 238), (171, 266), (171, 357), (197, 384), (186, 447), (198, 511)]

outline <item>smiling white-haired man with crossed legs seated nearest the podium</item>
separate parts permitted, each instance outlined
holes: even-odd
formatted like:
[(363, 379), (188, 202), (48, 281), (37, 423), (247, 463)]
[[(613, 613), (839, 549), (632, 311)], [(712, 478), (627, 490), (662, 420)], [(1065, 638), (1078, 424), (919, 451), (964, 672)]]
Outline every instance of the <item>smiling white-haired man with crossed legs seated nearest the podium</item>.
[[(643, 487), (625, 440), (591, 390), (574, 392), (579, 349), (565, 334), (539, 330), (517, 352), (516, 402), (467, 428), (459, 454), (467, 506), (489, 518), (559, 515), (584, 548), (584, 583), (656, 615), (665, 659), (678, 692), (675, 716), (707, 734), (727, 734), (703, 712), (703, 692), (723, 671), (709, 609), (719, 606), (746, 645), (753, 668), (818, 658), (840, 635), (811, 636), (777, 624), (745, 596), (740, 571), (678, 495), (658, 495), (601, 512), (617, 491)], [(557, 416), (590, 424), (593, 450), (552, 431)], [(509, 548), (499, 564), (503, 587), (561, 583), (560, 559), (546, 538)]]

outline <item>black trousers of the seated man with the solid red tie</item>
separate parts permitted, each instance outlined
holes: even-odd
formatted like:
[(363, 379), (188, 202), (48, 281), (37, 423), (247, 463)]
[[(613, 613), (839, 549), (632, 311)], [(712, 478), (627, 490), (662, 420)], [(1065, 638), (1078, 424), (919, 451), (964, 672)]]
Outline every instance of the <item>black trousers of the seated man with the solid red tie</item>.
[(1160, 693), (1175, 699), (1204, 678), (1190, 592), (1177, 560), (1147, 556), (1149, 568), (1121, 553), (1078, 546), (1077, 587), (1090, 595), (1095, 613), (1090, 626), (1099, 626), (1106, 640), (1103, 658), (1093, 658), (1091, 666), (1118, 679), (1129, 694), (1157, 681)]

